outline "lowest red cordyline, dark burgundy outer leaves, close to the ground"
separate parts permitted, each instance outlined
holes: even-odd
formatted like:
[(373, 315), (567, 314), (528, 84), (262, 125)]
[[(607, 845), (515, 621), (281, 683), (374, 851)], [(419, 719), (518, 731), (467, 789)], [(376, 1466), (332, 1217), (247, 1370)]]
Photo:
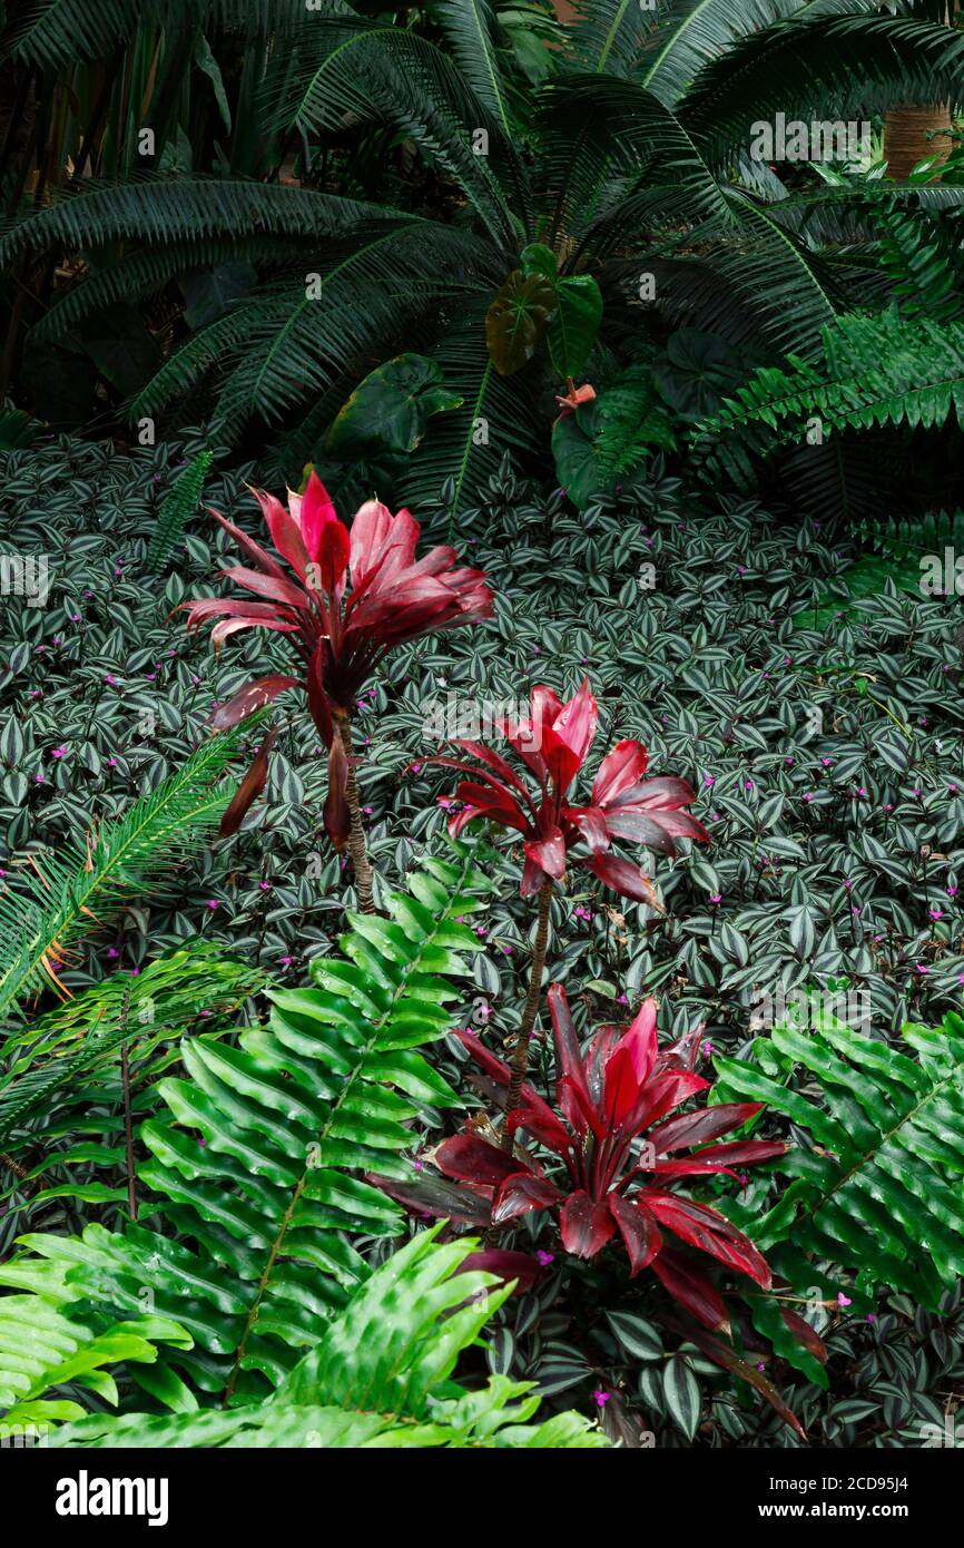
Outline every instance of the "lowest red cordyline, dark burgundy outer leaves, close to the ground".
[[(695, 1070), (702, 1028), (659, 1050), (655, 1000), (645, 1000), (628, 1029), (600, 1026), (585, 1053), (559, 983), (549, 989), (549, 1014), (557, 1110), (523, 1085), (520, 1105), (506, 1113), (512, 1152), (483, 1138), (472, 1121), (467, 1132), (444, 1139), (433, 1152), (435, 1166), (463, 1189), (433, 1197), (432, 1186), (379, 1180), (382, 1187), (422, 1212), (470, 1224), (491, 1218), (498, 1226), (551, 1209), (566, 1252), (591, 1259), (617, 1237), (631, 1277), (651, 1268), (698, 1322), (729, 1331), (723, 1296), (685, 1249), (695, 1248), (746, 1274), (763, 1289), (771, 1286), (769, 1266), (726, 1215), (675, 1189), (682, 1178), (720, 1172), (735, 1176), (735, 1166), (783, 1155), (781, 1141), (716, 1142), (761, 1111), (763, 1104), (723, 1102), (678, 1113), (710, 1087)], [(484, 1074), (508, 1090), (509, 1067), (470, 1033), (460, 1036)], [(548, 1169), (518, 1147), (521, 1132), (560, 1164)]]

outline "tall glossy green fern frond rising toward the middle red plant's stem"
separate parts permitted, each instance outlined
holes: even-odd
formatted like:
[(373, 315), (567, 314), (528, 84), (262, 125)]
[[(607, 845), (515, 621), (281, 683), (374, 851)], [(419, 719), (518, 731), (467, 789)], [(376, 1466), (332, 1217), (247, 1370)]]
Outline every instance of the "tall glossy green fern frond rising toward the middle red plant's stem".
[(150, 1285), (156, 1313), (193, 1339), (130, 1373), (169, 1406), (277, 1387), (370, 1274), (351, 1237), (402, 1231), (401, 1211), (357, 1172), (409, 1176), (419, 1107), (460, 1105), (419, 1048), (452, 1025), (449, 980), (480, 950), (456, 920), (491, 885), (467, 845), (427, 861), (410, 893), (388, 899), (388, 920), (351, 916), (344, 957), (316, 958), (316, 988), (272, 991), (268, 1029), (238, 1046), (184, 1039), (184, 1076), (153, 1085), (166, 1113), (136, 1133), (150, 1223), (29, 1234), (29, 1255), (2, 1266), (0, 1283), (36, 1291), (43, 1314), (53, 1279), (111, 1317), (139, 1310)]

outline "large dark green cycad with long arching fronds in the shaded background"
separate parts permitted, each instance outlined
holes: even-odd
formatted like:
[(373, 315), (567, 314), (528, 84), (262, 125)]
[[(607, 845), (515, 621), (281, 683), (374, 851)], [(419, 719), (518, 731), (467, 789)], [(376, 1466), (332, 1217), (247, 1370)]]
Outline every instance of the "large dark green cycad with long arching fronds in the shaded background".
[[(518, 28), (500, 9), (438, 6), (435, 33), (339, 0), (300, 25), (279, 20), (291, 22), (283, 46), (252, 51), (243, 82), (260, 111), (248, 96), (244, 118), (262, 135), (241, 132), (238, 115), (231, 155), (207, 135), (189, 158), (169, 128), (164, 172), (130, 178), (116, 163), (119, 176), (74, 176), (50, 203), (36, 192), (0, 257), (32, 252), (36, 266), (50, 252), (110, 254), (54, 296), (36, 348), (105, 307), (149, 296), (172, 307), (175, 280), (201, 269), (227, 300), (192, 313), (195, 331), (136, 392), (132, 415), (156, 416), (214, 372), (218, 438), (237, 444), (252, 423), (283, 423), (272, 455), (288, 477), (323, 455), (373, 362), (421, 350), (461, 407), (435, 415), (410, 463), (396, 463), (399, 494), (422, 503), (450, 480), (458, 511), (504, 450), (542, 444), (538, 406), (551, 404), (555, 373), (568, 381), (585, 364), (594, 375), (600, 317), (603, 368), (611, 356), (627, 364), (627, 333), (650, 319), (655, 334), (696, 327), (769, 362), (817, 358), (820, 328), (862, 302), (863, 254), (806, 226), (809, 211), (815, 228), (832, 226), (851, 190), (797, 190), (792, 169), (781, 180), (752, 158), (752, 125), (814, 101), (846, 121), (868, 101), (947, 99), (962, 43), (927, 3), (919, 19), (839, 9), (713, 0), (658, 15), (597, 0), (543, 50), (545, 77), (526, 101), (515, 54), (500, 46)], [(258, 15), (258, 39), (269, 29)], [(19, 57), (43, 36), (43, 25), (32, 42), (17, 36)], [(150, 23), (138, 48), (149, 40)], [(193, 37), (181, 42), (175, 74)], [(217, 82), (217, 63), (204, 65)], [(396, 136), (410, 147), (401, 170), (387, 155)], [(260, 166), (238, 153), (258, 138)], [(275, 180), (299, 142), (296, 176)], [(916, 184), (891, 189), (897, 203), (921, 197)], [(941, 192), (956, 200), (956, 187)], [(221, 276), (238, 259), (260, 283)], [(648, 276), (656, 296), (644, 310)]]

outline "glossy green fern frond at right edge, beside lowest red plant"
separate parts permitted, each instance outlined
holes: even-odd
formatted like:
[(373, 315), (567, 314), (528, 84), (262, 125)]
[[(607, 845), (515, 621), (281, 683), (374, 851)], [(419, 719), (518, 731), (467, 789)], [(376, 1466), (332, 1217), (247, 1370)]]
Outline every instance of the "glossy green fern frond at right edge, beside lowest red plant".
[(964, 1274), (964, 1022), (911, 1023), (904, 1040), (916, 1059), (823, 1012), (774, 1026), (744, 1059), (716, 1056), (716, 1094), (766, 1102), (800, 1135), (775, 1161), (789, 1187), (771, 1207), (729, 1204), (797, 1296), (873, 1313), (891, 1288), (933, 1310)]

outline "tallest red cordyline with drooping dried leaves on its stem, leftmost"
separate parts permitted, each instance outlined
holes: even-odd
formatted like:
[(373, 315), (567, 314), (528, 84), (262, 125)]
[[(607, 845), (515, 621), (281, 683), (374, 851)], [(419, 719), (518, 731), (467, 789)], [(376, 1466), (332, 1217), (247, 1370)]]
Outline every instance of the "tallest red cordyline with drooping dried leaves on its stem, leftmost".
[(248, 560), (221, 573), (252, 596), (195, 598), (181, 607), (187, 608), (189, 630), (217, 619), (210, 635), (215, 650), (244, 628), (288, 635), (302, 658), (302, 675), (272, 673), (248, 683), (220, 706), (212, 724), (224, 731), (288, 687), (306, 690), (311, 718), (330, 752), (325, 828), (337, 848), (348, 844), (359, 906), (371, 912), (351, 709), (395, 646), (489, 618), (492, 593), (481, 570), (458, 567), (453, 548), (432, 548), (416, 560), (421, 528), (409, 511), (391, 515), (378, 500), (367, 500), (348, 529), (314, 472), (303, 495), (288, 492), (288, 509), (262, 489), (252, 494), (294, 579), (260, 543), (212, 511)]

